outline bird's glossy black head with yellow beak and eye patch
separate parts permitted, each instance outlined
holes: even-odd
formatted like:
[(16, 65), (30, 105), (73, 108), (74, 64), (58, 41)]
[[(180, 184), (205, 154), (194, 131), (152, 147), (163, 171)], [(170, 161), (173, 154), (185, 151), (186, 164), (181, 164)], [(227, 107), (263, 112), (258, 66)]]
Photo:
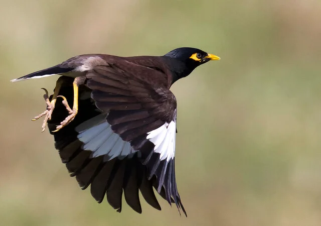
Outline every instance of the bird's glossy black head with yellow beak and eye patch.
[(173, 72), (173, 83), (180, 78), (188, 76), (196, 67), (204, 64), (210, 60), (219, 60), (220, 57), (213, 54), (208, 54), (203, 50), (182, 47), (165, 54), (166, 58), (171, 60), (170, 69)]

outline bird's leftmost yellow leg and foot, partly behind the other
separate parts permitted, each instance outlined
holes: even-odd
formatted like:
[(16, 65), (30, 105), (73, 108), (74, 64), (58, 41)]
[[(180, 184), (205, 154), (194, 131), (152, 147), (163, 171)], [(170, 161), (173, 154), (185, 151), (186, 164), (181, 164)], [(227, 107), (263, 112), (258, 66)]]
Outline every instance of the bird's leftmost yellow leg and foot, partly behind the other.
[(57, 100), (58, 93), (59, 93), (59, 90), (61, 88), (62, 83), (63, 83), (62, 79), (59, 78), (57, 80), (56, 87), (55, 87), (54, 94), (52, 96), (52, 100), (51, 101), (49, 100), (49, 94), (48, 94), (47, 89), (42, 88), (46, 92), (44, 94), (44, 98), (45, 98), (45, 101), (47, 103), (47, 109), (44, 112), (42, 112), (40, 115), (38, 115), (34, 119), (32, 119), (32, 121), (36, 121), (36, 120), (40, 119), (41, 117), (45, 116), (44, 123), (42, 124), (42, 127), (41, 127), (42, 128), (41, 132), (45, 131), (45, 128), (46, 128), (46, 125), (47, 125), (47, 121), (51, 120), (52, 112), (55, 109), (56, 100)]

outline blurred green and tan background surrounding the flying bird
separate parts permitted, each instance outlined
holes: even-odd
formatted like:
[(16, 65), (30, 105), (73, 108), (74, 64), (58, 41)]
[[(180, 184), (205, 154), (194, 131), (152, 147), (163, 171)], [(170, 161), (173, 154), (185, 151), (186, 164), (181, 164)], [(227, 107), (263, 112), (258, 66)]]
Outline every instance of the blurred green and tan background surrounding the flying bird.
[[(2, 225), (321, 225), (321, 1), (0, 2)], [(182, 46), (221, 57), (172, 88), (188, 218), (161, 198), (162, 211), (119, 214), (31, 122), (57, 77), (10, 80), (79, 54)]]

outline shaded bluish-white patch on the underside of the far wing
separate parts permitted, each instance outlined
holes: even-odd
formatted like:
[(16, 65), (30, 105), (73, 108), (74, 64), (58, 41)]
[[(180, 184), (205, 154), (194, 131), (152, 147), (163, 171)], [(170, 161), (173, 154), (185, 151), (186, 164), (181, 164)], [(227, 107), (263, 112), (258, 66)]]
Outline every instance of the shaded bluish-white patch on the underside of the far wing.
[(92, 151), (92, 158), (107, 155), (107, 160), (123, 159), (137, 151), (131, 148), (130, 143), (123, 141), (118, 134), (111, 130), (106, 121), (106, 115), (98, 115), (77, 126), (77, 138), (84, 143), (83, 149)]

